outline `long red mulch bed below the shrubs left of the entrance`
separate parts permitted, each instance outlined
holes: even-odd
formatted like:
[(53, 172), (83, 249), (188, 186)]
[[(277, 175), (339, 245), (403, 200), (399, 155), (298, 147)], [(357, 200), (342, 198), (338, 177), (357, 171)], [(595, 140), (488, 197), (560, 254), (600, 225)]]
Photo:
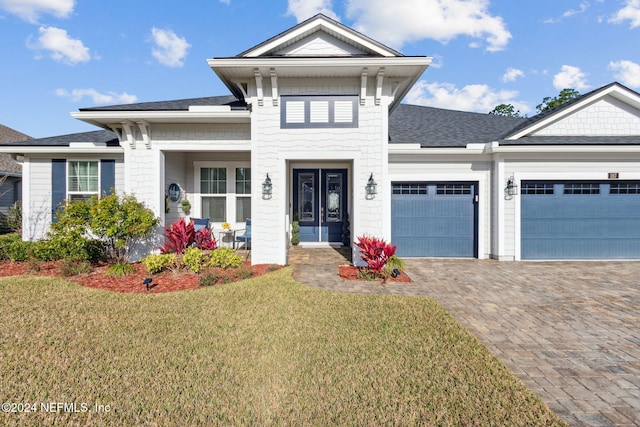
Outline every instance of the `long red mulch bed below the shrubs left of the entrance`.
[[(188, 271), (178, 273), (165, 271), (159, 274), (149, 274), (144, 265), (140, 263), (133, 264), (134, 272), (124, 277), (106, 275), (107, 265), (94, 265), (93, 270), (88, 274), (64, 277), (61, 273), (61, 266), (62, 261), (42, 262), (37, 264), (37, 269), (34, 269), (27, 262), (2, 262), (0, 263), (0, 277), (23, 275), (61, 277), (87, 288), (124, 293), (162, 293), (201, 288), (199, 275), (197, 274)], [(248, 262), (245, 263), (244, 268), (251, 269), (252, 277), (260, 276), (272, 270), (272, 267), (268, 264), (251, 266)], [(215, 269), (210, 270), (210, 272), (221, 276), (226, 275), (230, 277), (231, 281), (239, 280), (234, 276), (233, 270)], [(205, 272), (201, 274), (205, 274)], [(143, 284), (148, 277), (152, 279), (149, 291)]]

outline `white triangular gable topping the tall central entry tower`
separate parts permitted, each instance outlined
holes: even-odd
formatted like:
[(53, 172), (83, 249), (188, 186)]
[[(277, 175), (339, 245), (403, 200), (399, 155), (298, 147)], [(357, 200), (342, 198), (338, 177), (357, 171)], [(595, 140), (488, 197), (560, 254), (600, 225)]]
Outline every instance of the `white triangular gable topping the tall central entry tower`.
[(239, 55), (270, 56), (403, 56), (352, 28), (318, 14)]

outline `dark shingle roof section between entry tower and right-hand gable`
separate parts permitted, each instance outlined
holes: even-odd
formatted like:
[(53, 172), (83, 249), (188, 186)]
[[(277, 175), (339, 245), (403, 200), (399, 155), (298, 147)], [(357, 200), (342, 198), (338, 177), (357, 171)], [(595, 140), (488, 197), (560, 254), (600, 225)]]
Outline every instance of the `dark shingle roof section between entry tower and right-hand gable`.
[(497, 141), (526, 119), (400, 104), (389, 118), (391, 143), (465, 147)]

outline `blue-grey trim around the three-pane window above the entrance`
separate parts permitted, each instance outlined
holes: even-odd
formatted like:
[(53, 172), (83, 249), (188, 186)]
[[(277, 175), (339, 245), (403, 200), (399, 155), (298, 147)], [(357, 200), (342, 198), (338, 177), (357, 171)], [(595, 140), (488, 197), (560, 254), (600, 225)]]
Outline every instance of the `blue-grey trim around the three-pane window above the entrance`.
[[(338, 101), (350, 101), (351, 121), (336, 121), (335, 103)], [(303, 103), (303, 120), (297, 122), (287, 122), (287, 104), (293, 102)], [(326, 122), (314, 122), (311, 121), (311, 103), (312, 102), (327, 102), (327, 121)], [(280, 102), (280, 128), (281, 129), (317, 129), (317, 128), (357, 128), (358, 127), (358, 107), (359, 107), (358, 95), (282, 95)]]

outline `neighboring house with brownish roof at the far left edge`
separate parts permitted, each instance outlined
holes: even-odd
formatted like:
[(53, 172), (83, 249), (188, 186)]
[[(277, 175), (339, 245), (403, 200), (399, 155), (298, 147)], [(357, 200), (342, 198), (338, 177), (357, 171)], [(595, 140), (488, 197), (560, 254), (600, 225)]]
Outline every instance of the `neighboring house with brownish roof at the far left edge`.
[[(0, 125), (0, 144), (26, 141), (31, 137)], [(6, 223), (8, 209), (22, 199), (22, 167), (9, 154), (0, 154), (0, 233), (9, 230)]]

